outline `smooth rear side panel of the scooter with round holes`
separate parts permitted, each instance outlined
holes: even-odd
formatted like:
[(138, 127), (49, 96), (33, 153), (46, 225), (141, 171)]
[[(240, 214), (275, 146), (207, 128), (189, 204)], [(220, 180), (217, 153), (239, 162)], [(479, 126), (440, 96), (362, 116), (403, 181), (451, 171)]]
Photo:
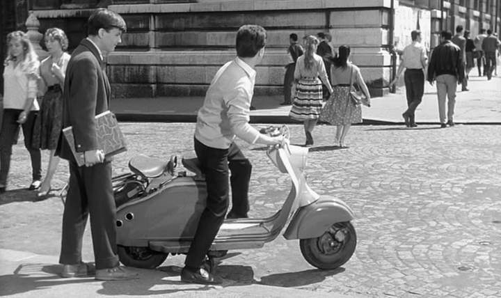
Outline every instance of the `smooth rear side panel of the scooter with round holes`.
[(182, 177), (168, 182), (118, 209), (117, 221), (122, 225), (117, 226), (117, 244), (148, 246), (155, 240), (191, 240), (206, 199), (205, 181)]

